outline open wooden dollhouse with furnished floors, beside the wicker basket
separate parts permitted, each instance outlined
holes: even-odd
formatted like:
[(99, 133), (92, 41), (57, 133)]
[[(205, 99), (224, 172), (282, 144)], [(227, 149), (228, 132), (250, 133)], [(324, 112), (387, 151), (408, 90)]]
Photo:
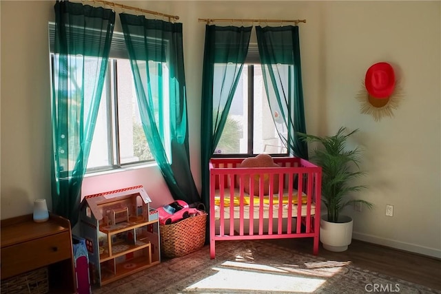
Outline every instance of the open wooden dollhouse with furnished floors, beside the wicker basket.
[(85, 196), (80, 231), (100, 286), (161, 262), (158, 212), (143, 186)]

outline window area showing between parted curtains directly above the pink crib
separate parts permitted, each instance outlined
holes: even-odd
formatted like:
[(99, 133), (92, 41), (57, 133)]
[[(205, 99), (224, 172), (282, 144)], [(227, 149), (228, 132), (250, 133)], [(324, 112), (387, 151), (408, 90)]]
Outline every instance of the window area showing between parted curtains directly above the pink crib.
[[(250, 55), (256, 55), (250, 45)], [(254, 61), (256, 61), (254, 59)], [(246, 63), (214, 156), (287, 155), (269, 109), (259, 63)]]

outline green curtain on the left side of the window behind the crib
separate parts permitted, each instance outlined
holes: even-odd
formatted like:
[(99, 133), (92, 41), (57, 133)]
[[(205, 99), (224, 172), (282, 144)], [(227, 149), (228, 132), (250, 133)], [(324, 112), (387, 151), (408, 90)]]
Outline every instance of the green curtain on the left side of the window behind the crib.
[(227, 120), (243, 63), (247, 57), (251, 30), (252, 27), (205, 26), (201, 105), (201, 178), (202, 199), (207, 209), (209, 209), (208, 162)]

